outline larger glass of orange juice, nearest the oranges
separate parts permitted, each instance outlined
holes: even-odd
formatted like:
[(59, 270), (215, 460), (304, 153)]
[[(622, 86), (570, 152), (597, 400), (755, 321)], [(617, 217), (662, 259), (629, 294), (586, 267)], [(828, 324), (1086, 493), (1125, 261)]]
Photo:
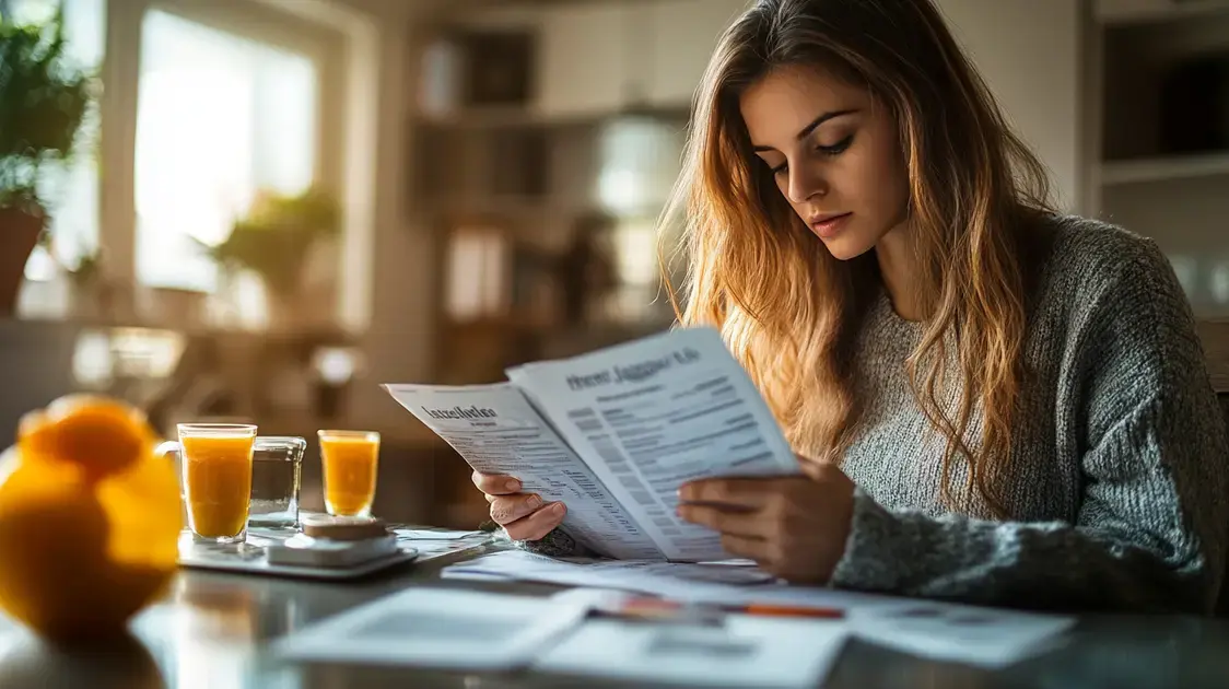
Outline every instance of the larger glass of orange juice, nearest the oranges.
[(243, 543), (256, 426), (181, 423), (178, 431), (183, 498), (194, 540)]

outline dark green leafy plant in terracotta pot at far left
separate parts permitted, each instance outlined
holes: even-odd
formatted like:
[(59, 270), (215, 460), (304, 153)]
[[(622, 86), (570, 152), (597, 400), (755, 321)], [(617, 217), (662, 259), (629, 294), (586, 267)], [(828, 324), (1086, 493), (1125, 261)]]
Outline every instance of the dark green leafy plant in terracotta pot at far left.
[(12, 316), (47, 224), (39, 171), (69, 157), (90, 86), (65, 58), (63, 10), (43, 25), (0, 15), (0, 317)]

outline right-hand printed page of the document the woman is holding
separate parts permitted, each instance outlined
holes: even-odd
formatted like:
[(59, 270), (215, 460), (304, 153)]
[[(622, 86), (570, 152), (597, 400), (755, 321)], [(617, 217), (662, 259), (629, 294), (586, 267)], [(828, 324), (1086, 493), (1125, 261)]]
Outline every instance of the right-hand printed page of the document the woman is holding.
[(713, 329), (676, 330), (526, 364), (509, 380), (558, 426), (669, 560), (728, 557), (720, 535), (677, 514), (678, 486), (796, 474), (789, 443)]

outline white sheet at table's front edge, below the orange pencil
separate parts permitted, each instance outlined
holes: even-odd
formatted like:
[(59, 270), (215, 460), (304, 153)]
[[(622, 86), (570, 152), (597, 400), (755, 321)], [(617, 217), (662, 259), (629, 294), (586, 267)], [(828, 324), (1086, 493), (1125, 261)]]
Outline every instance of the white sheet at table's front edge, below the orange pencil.
[(817, 687), (839, 657), (841, 623), (730, 615), (721, 626), (587, 620), (532, 668), (712, 687)]

